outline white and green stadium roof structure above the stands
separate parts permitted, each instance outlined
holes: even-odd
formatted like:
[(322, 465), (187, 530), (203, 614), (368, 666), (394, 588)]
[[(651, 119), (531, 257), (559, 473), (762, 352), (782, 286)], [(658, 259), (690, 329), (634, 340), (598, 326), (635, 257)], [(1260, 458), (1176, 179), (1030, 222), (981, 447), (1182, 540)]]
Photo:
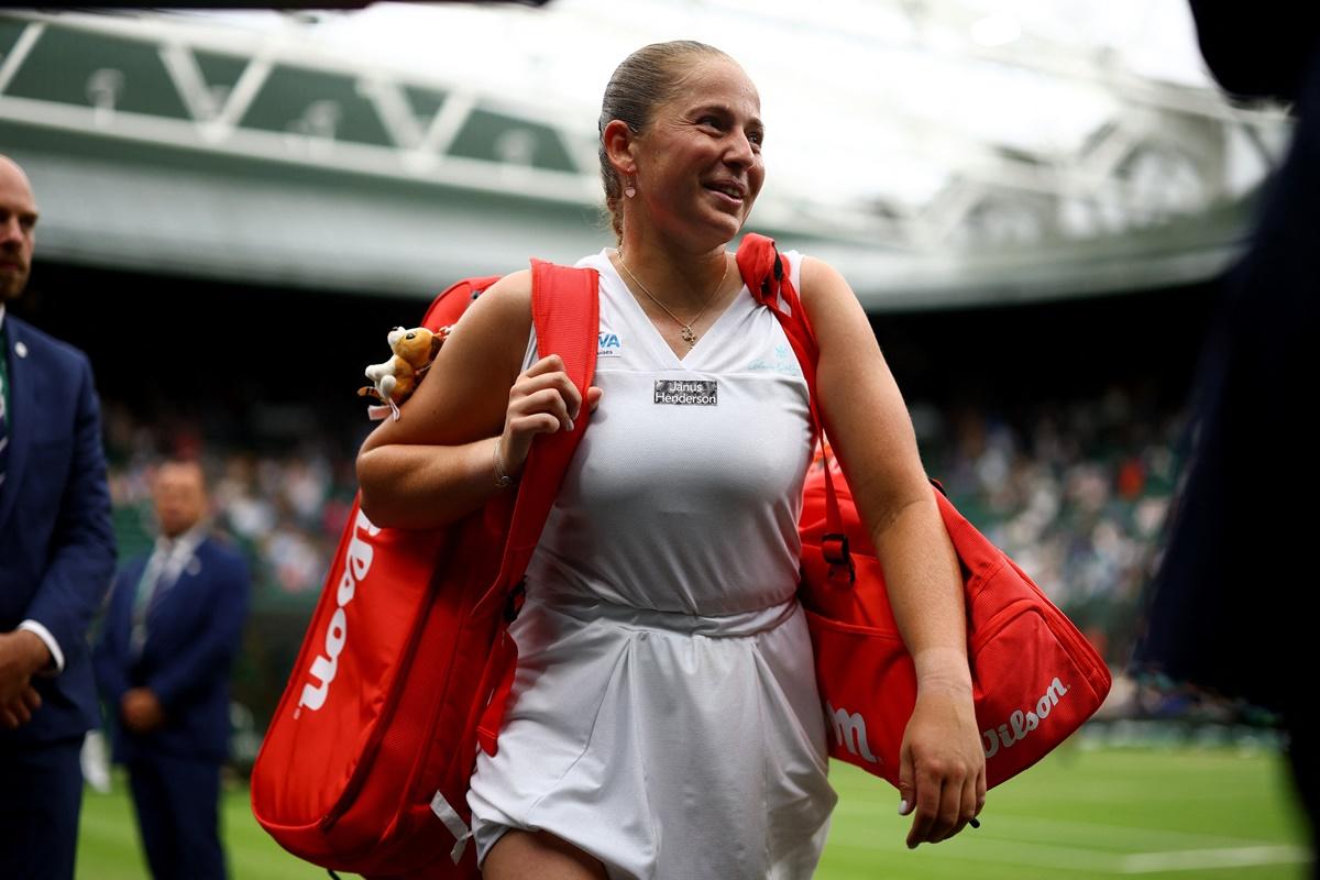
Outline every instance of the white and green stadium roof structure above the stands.
[(610, 243), (599, 94), (678, 37), (760, 88), (752, 227), (873, 311), (1209, 277), (1290, 135), (1181, 0), (554, 0), (0, 13), (0, 150), (41, 256), (425, 296)]

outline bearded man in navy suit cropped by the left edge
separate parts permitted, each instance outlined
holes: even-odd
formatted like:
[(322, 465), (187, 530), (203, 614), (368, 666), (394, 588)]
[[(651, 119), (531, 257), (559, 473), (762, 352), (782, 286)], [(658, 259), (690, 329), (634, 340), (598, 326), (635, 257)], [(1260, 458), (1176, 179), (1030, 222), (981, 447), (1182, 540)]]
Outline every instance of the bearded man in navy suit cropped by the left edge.
[(13, 315), (37, 204), (0, 156), (0, 871), (74, 876), (98, 723), (87, 628), (115, 570), (100, 406), (77, 348)]

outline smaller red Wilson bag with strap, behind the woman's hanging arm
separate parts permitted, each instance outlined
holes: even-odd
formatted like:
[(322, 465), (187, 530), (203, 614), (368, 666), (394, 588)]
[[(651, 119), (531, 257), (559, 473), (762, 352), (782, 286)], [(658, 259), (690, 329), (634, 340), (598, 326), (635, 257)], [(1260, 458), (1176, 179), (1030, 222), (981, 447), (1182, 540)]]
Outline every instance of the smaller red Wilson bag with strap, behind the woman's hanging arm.
[[(738, 248), (748, 289), (780, 319), (812, 389), (818, 348), (789, 268), (764, 236)], [(788, 311), (780, 305), (787, 306)], [(936, 492), (962, 567), (968, 658), (993, 786), (1031, 767), (1100, 708), (1109, 668), (1077, 628), (1003, 551)], [(833, 730), (830, 756), (899, 784), (899, 748), (916, 705), (884, 575), (842, 471), (826, 453), (808, 472), (799, 521), (803, 583), (816, 678)]]

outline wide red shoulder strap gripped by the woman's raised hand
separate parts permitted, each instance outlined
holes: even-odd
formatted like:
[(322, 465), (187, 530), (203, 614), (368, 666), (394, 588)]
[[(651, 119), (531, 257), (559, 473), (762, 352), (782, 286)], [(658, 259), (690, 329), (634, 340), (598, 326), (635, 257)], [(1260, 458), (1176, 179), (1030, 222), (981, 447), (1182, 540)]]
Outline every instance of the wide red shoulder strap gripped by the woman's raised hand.
[[(601, 323), (599, 274), (595, 269), (576, 269), (532, 260), (532, 323), (536, 326), (537, 355), (564, 359), (564, 371), (582, 398), (595, 376), (595, 352)], [(590, 413), (574, 420), (572, 431), (540, 434), (523, 468), (524, 478), (513, 504), (508, 544), (500, 575), (492, 592), (511, 590), (527, 571), (550, 505), (560, 492), (564, 472), (582, 441)]]

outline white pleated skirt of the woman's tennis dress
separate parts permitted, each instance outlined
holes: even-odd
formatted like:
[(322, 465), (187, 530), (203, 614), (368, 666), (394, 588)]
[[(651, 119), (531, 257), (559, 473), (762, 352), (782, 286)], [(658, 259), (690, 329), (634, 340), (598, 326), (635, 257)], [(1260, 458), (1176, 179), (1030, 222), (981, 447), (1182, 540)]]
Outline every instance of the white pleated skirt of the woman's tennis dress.
[(614, 880), (812, 876), (837, 796), (796, 599), (718, 617), (528, 596), (495, 756), (469, 793), (479, 859), (544, 830)]

